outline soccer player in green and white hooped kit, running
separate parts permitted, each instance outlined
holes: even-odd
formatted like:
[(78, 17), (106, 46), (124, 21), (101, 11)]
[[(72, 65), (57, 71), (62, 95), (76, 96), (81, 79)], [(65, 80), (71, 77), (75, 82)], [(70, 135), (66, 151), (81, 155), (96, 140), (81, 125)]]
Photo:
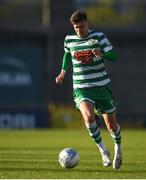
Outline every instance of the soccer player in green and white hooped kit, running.
[[(89, 135), (97, 144), (103, 165), (113, 165), (119, 169), (122, 165), (121, 129), (115, 115), (115, 98), (109, 88), (110, 78), (104, 61), (116, 61), (116, 53), (103, 32), (89, 29), (85, 12), (75, 11), (70, 22), (75, 34), (67, 35), (64, 41), (62, 69), (56, 77), (61, 84), (65, 78), (70, 62), (73, 66), (73, 96), (76, 107), (80, 110)], [(114, 142), (114, 159), (111, 162), (95, 120), (94, 109), (100, 113)]]

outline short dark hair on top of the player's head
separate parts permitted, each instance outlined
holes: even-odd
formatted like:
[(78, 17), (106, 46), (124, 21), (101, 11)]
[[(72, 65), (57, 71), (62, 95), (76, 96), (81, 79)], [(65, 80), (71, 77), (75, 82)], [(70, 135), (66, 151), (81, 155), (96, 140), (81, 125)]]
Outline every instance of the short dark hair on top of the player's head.
[(70, 22), (71, 24), (74, 24), (80, 21), (87, 21), (87, 15), (85, 12), (78, 10), (71, 15)]

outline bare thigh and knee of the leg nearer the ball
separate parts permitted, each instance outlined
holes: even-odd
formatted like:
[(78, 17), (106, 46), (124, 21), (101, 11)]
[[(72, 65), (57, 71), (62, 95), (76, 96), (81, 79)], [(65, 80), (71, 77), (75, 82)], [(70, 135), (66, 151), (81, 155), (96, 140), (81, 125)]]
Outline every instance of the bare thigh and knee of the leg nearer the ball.
[(84, 118), (85, 123), (91, 123), (95, 120), (94, 116), (94, 104), (90, 101), (82, 101), (80, 103), (79, 109)]

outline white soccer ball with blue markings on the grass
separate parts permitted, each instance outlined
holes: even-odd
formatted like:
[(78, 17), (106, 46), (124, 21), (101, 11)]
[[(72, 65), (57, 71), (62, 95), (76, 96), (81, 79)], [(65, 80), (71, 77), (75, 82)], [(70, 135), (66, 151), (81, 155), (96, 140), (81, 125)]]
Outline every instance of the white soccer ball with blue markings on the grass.
[(79, 158), (79, 153), (73, 148), (65, 148), (59, 153), (59, 163), (64, 168), (74, 168)]

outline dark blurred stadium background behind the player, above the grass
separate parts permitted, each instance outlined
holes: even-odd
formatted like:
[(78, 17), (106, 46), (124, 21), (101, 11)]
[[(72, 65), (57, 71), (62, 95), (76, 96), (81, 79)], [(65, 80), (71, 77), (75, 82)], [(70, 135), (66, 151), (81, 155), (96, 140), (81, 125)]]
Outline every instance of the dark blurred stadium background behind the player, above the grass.
[(84, 9), (119, 54), (106, 62), (123, 127), (146, 127), (146, 1), (1, 0), (0, 128), (82, 127), (72, 99), (71, 69), (62, 86), (69, 17)]

